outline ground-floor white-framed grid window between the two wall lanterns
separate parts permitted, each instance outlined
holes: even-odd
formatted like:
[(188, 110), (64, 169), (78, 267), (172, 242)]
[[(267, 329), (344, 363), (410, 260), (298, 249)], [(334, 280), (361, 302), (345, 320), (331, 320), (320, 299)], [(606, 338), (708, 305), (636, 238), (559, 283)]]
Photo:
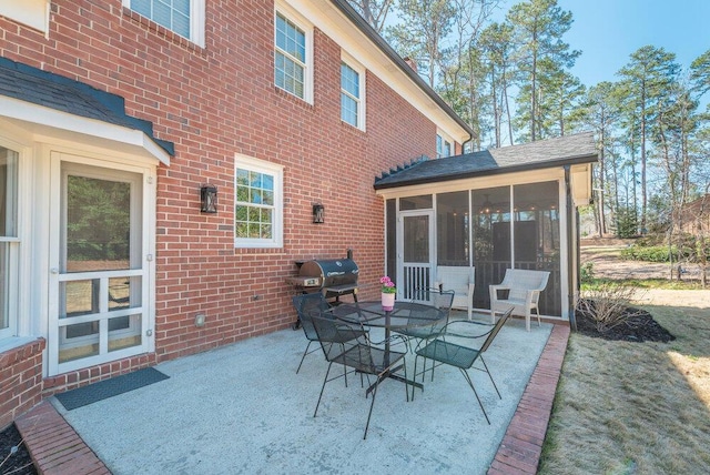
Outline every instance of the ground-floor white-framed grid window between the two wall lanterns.
[(234, 246), (281, 247), (283, 168), (236, 155), (234, 190)]

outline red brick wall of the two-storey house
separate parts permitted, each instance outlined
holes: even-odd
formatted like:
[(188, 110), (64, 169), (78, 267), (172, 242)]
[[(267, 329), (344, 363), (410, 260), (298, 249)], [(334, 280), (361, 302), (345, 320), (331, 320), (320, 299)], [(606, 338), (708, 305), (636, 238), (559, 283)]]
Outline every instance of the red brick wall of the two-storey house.
[[(206, 2), (204, 49), (121, 0), (53, 1), (51, 9), (49, 39), (0, 18), (0, 55), (122, 95), (126, 113), (175, 143), (158, 179), (154, 362), (287, 327), (294, 290), (284, 276), (296, 273), (296, 260), (352, 249), (361, 283), (377, 281), (384, 221), (374, 179), (434, 156), (434, 123), (371, 72), (366, 131), (342, 123), (341, 49), (317, 29), (314, 103), (275, 88), (270, 1)], [(285, 165), (283, 249), (234, 249), (235, 153)], [(204, 182), (219, 188), (217, 214), (200, 213)], [(325, 206), (320, 225), (311, 215), (316, 201)], [(206, 314), (205, 326), (194, 326), (196, 313)], [(104, 370), (122, 371), (62, 375), (48, 392)]]

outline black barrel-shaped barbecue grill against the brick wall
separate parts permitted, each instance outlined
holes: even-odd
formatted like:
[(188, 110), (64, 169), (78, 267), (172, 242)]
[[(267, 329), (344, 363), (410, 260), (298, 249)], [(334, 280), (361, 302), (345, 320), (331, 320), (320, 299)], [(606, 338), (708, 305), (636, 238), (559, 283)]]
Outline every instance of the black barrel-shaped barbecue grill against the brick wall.
[[(346, 259), (314, 259), (296, 262), (298, 275), (287, 277), (286, 282), (294, 285), (298, 292), (322, 292), (325, 299), (335, 299), (331, 305), (341, 303), (342, 295), (352, 294), (357, 302), (357, 275), (359, 267), (351, 257)], [(298, 322), (294, 327), (298, 326)]]

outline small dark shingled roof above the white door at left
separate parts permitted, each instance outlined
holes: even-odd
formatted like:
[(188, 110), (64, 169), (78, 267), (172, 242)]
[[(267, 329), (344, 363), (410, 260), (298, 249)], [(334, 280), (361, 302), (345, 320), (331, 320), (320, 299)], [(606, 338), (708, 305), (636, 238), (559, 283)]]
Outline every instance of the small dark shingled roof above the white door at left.
[[(83, 82), (0, 58), (0, 99), (2, 97), (101, 121), (124, 130), (139, 131), (158, 145), (165, 156), (175, 154), (172, 142), (160, 140), (153, 135), (152, 122), (125, 113), (125, 102), (122, 97), (101, 91)], [(0, 110), (0, 117), (12, 117), (11, 108), (6, 109)], [(16, 119), (27, 120), (24, 117), (16, 117)], [(42, 118), (34, 115), (34, 120), (41, 121)], [(58, 127), (70, 125), (60, 123)], [(83, 132), (89, 133), (87, 130)]]

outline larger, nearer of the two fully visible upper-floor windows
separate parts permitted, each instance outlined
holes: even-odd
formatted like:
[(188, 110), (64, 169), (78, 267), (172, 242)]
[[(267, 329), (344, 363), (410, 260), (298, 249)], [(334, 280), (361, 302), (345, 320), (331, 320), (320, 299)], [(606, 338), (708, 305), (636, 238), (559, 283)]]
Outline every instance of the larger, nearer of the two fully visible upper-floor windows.
[(274, 23), (274, 83), (312, 102), (312, 29), (281, 11)]

